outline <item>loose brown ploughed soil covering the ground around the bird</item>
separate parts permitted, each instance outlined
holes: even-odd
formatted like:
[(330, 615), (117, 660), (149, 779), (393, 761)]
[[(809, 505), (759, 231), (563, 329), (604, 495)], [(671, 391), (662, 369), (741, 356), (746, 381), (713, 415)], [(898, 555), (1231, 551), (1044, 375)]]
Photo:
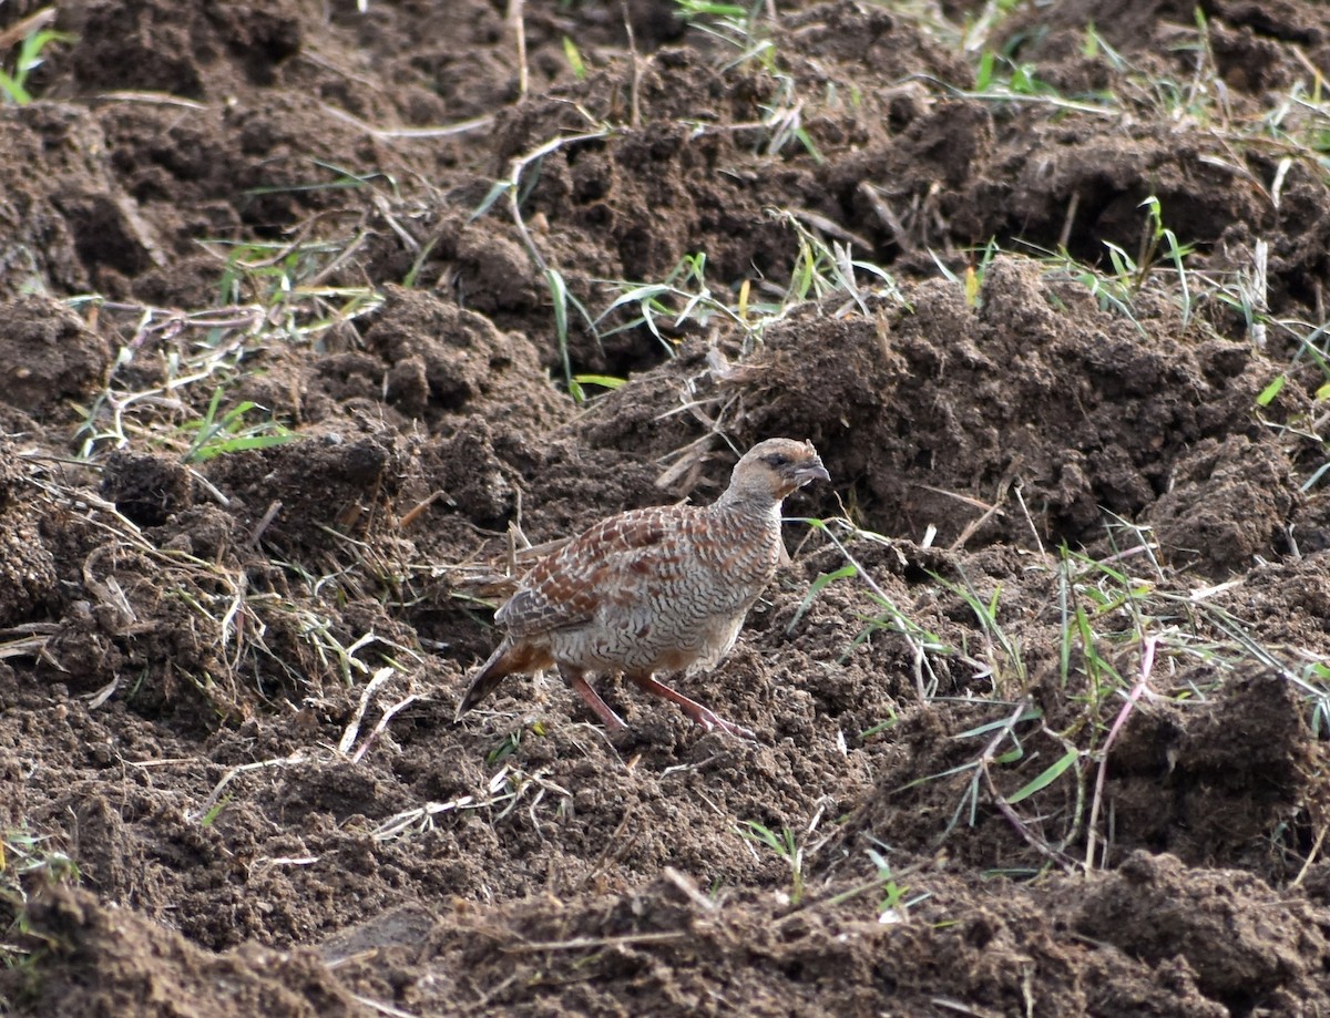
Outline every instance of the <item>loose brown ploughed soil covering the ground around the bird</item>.
[[(0, 1011), (1330, 1011), (1327, 726), (1293, 680), (1330, 655), (1330, 502), (1305, 484), (1323, 379), (1303, 359), (1258, 409), (1297, 344), (1258, 346), (1241, 310), (1184, 318), (1145, 287), (1132, 320), (1071, 271), (974, 254), (1104, 263), (1157, 195), (1193, 271), (1245, 271), (1264, 241), (1271, 314), (1321, 320), (1323, 167), (1200, 114), (975, 98), (955, 52), (853, 0), (777, 4), (770, 64), (666, 0), (527, 4), (525, 94), (507, 4), (363, 7), (60, 4), (74, 39), (41, 98), (0, 106), (0, 831), (80, 874), (3, 861), (28, 901), (0, 901), (0, 941), (33, 953), (7, 954)], [(1330, 73), (1330, 9), (1204, 8), (1232, 116)], [(1189, 3), (1019, 5), (990, 44), (1065, 96), (1129, 92), (1089, 23), (1193, 81)], [(815, 154), (763, 126), (790, 89)], [(521, 177), (524, 237), (487, 195), (559, 138)], [(862, 303), (803, 303), (761, 342), (669, 316), (597, 338), (569, 306), (561, 351), (527, 251), (593, 315), (605, 280), (694, 253), (714, 291), (770, 300), (795, 223), (899, 295), (863, 274)], [(299, 253), (250, 250), (237, 278), (223, 245), (297, 242), (327, 245), (302, 282), (331, 324), (298, 311), (290, 342), (243, 346), (215, 322), (279, 324), (263, 270)], [(338, 312), (366, 287), (372, 310)], [(241, 369), (181, 383), (211, 344)], [(565, 357), (628, 383), (577, 404)], [(188, 462), (165, 425), (221, 380), (301, 440)], [(612, 679), (622, 739), (551, 676), (452, 724), (511, 522), (539, 542), (709, 500), (773, 435), (833, 476), (791, 516), (890, 540), (847, 548), (876, 597), (807, 601), (846, 558), (790, 525), (793, 567), (692, 686), (755, 743)], [(1100, 793), (1085, 756), (1021, 796), (1068, 746), (1101, 750), (1142, 667), (1129, 630), (1064, 647), (1088, 569), (1064, 545), (1201, 593), (1145, 625), (1156, 671)], [(1019, 653), (967, 590), (1000, 591)], [(956, 653), (920, 658), (887, 602)], [(1234, 629), (1267, 657), (1169, 653)], [(1096, 699), (1097, 667), (1119, 692)], [(984, 755), (1004, 719), (1020, 759)], [(801, 881), (746, 823), (794, 832)]]

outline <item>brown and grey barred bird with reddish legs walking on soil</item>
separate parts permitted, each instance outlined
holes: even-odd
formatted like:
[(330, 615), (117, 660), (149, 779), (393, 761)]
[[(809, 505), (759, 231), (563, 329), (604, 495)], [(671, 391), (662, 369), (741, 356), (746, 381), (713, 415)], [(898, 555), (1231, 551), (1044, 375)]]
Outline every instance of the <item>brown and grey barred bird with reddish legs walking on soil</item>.
[(476, 670), (455, 722), (513, 674), (555, 666), (606, 730), (626, 730), (587, 680), (621, 672), (672, 700), (705, 731), (754, 739), (656, 679), (713, 668), (775, 570), (789, 562), (781, 505), (811, 481), (830, 481), (809, 441), (767, 439), (734, 465), (710, 505), (665, 505), (610, 516), (545, 556), (495, 613), (503, 639)]

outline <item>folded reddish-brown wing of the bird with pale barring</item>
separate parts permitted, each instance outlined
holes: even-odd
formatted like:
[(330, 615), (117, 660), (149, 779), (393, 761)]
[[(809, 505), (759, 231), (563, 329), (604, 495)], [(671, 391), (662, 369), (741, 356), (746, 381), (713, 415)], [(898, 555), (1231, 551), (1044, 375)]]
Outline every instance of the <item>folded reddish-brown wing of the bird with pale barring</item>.
[(668, 595), (686, 570), (692, 506), (634, 509), (602, 520), (543, 558), (495, 615), (513, 639), (591, 622), (606, 605)]

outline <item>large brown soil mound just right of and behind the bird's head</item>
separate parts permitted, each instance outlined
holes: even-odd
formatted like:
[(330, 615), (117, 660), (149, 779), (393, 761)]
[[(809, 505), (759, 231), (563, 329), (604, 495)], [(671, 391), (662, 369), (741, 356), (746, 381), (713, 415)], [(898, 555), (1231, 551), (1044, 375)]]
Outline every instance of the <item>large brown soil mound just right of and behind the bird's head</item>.
[[(1264, 368), (1236, 343), (1169, 338), (1176, 311), (1160, 307), (1162, 335), (1142, 344), (1130, 322), (1005, 258), (990, 266), (976, 306), (938, 280), (902, 294), (904, 307), (875, 319), (793, 316), (767, 332), (733, 387), (746, 435), (809, 435), (875, 530), (922, 537), (931, 525), (952, 541), (983, 517), (983, 502), (1020, 482), (1031, 520), (994, 517), (970, 540), (1019, 541), (1032, 524), (1045, 544), (1092, 544), (1104, 509), (1140, 517), (1208, 436), (1283, 456), (1277, 437), (1249, 423)], [(1270, 509), (1282, 486), (1285, 517), (1295, 502), (1286, 474), (1253, 470), (1232, 484)], [(982, 502), (958, 513), (954, 492)], [(1173, 512), (1198, 497), (1176, 493)], [(1161, 530), (1169, 545), (1196, 534)], [(1206, 554), (1244, 567), (1274, 550), (1278, 532), (1274, 514), (1236, 546), (1208, 542)]]

